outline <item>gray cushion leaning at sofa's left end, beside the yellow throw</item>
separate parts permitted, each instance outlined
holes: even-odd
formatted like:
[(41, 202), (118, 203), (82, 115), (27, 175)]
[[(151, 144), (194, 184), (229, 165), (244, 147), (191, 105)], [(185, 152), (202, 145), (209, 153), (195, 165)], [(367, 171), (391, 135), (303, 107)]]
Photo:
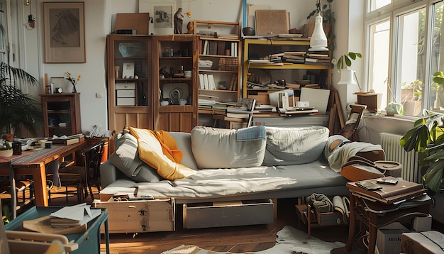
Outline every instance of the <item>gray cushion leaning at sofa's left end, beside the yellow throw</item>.
[(109, 156), (109, 161), (131, 180), (138, 182), (162, 180), (155, 169), (140, 160), (137, 139), (129, 133), (119, 137), (116, 140), (116, 152)]

